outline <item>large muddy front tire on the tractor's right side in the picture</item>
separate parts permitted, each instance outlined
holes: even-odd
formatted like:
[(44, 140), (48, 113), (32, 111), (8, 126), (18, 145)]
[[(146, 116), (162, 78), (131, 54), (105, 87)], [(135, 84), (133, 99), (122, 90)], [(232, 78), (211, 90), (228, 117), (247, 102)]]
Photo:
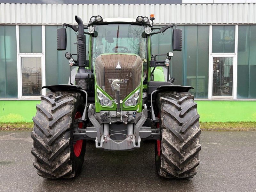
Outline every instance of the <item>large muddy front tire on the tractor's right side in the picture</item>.
[(155, 163), (159, 176), (192, 178), (197, 173), (199, 115), (194, 96), (189, 92), (158, 94), (161, 141), (155, 144)]

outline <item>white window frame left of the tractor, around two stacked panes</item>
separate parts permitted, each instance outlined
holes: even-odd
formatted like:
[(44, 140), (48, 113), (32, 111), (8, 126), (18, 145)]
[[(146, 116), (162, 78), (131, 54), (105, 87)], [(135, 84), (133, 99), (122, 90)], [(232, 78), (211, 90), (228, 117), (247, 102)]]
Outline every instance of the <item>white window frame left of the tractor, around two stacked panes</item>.
[[(20, 53), (19, 25), (16, 25), (18, 100), (40, 100), (41, 96), (22, 96), (21, 58), (22, 57), (41, 57), (42, 87), (45, 86), (45, 35), (44, 34), (45, 34), (45, 26), (42, 25), (42, 53)], [(42, 95), (45, 95), (45, 93), (46, 93), (46, 90), (42, 89)]]

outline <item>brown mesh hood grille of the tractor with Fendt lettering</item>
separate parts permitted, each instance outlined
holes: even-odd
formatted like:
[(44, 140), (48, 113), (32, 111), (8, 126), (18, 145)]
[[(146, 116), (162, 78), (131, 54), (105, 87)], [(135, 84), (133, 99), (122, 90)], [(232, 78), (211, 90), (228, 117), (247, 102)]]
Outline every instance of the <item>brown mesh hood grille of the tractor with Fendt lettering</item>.
[(123, 100), (141, 84), (142, 60), (131, 53), (101, 54), (95, 60), (95, 76), (97, 85), (113, 99), (116, 91), (111, 84), (115, 79), (120, 80), (120, 99)]

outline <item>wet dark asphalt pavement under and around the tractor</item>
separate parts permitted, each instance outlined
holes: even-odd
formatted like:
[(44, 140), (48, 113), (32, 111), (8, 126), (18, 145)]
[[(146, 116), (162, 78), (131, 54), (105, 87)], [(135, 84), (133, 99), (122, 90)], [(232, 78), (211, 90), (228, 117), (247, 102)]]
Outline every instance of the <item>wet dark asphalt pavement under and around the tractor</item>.
[(256, 132), (202, 132), (192, 179), (167, 180), (155, 171), (154, 144), (105, 152), (87, 143), (82, 173), (72, 180), (39, 177), (30, 132), (0, 132), (0, 191), (256, 191)]

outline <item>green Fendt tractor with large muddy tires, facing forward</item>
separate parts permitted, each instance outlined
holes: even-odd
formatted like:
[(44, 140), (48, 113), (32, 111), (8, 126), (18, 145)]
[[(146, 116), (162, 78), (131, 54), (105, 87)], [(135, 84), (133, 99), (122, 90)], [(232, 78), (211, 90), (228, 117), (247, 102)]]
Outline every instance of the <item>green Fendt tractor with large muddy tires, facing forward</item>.
[(182, 31), (175, 24), (153, 27), (154, 15), (104, 20), (98, 15), (87, 27), (75, 19), (78, 26), (64, 23), (57, 29), (58, 50), (66, 50), (67, 27), (77, 32), (77, 54), (65, 54), (69, 83), (44, 86), (50, 92), (41, 96), (33, 117), (31, 152), (38, 175), (78, 175), (86, 140), (102, 150), (132, 150), (142, 140), (154, 140), (159, 176), (192, 178), (201, 149), (197, 104), (188, 92), (194, 88), (173, 84), (172, 52), (151, 52), (151, 36), (168, 28), (172, 50), (181, 51)]

